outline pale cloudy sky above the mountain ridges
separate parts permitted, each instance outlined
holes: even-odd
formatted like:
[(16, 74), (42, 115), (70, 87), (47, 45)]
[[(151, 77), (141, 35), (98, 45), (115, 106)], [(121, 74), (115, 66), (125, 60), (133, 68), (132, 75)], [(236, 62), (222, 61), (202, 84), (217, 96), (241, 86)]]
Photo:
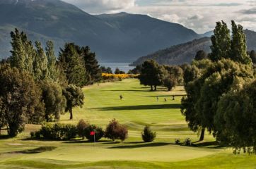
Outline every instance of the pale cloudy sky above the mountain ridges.
[(91, 14), (137, 13), (180, 23), (198, 33), (213, 30), (216, 21), (235, 20), (256, 30), (256, 0), (64, 0)]

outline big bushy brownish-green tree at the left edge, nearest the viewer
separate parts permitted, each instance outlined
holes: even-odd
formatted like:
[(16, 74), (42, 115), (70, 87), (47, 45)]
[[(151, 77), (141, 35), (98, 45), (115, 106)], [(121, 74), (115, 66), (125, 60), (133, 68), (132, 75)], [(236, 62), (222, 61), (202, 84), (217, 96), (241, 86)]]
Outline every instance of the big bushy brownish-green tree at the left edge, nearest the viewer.
[(28, 73), (3, 65), (0, 68), (1, 114), (6, 120), (8, 134), (15, 137), (25, 123), (40, 123), (44, 106), (41, 90)]

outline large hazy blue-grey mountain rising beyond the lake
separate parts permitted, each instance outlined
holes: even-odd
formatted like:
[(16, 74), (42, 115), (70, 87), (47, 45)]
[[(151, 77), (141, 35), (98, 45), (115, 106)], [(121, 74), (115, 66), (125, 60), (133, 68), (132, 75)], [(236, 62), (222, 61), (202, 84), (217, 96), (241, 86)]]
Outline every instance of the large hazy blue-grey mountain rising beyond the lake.
[(60, 0), (1, 0), (0, 57), (10, 56), (9, 33), (17, 27), (35, 42), (90, 46), (101, 62), (132, 62), (198, 35), (176, 23), (129, 13), (91, 15)]

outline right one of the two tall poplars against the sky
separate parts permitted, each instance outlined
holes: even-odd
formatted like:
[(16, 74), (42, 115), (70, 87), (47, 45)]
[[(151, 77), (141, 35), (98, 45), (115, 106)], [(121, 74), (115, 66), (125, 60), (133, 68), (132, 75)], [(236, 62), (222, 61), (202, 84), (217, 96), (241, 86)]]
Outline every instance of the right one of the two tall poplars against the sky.
[(250, 64), (251, 59), (247, 54), (246, 37), (241, 25), (236, 25), (232, 20), (232, 40), (230, 58), (243, 64)]

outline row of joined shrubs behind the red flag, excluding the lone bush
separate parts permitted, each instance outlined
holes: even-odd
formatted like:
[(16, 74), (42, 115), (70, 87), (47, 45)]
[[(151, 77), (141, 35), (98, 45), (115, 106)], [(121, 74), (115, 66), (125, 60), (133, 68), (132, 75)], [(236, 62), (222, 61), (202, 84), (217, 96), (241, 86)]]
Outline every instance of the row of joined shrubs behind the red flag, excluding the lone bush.
[[(91, 132), (95, 132), (95, 136), (91, 135)], [(54, 140), (69, 140), (74, 139), (76, 136), (80, 136), (83, 139), (86, 137), (91, 142), (98, 141), (102, 137), (112, 139), (127, 139), (128, 130), (127, 127), (118, 123), (117, 120), (112, 120), (106, 127), (104, 132), (101, 127), (96, 125), (90, 125), (84, 120), (80, 120), (77, 125), (61, 124), (61, 123), (45, 123), (41, 129), (37, 132), (30, 132), (31, 137), (37, 139), (54, 139)]]

